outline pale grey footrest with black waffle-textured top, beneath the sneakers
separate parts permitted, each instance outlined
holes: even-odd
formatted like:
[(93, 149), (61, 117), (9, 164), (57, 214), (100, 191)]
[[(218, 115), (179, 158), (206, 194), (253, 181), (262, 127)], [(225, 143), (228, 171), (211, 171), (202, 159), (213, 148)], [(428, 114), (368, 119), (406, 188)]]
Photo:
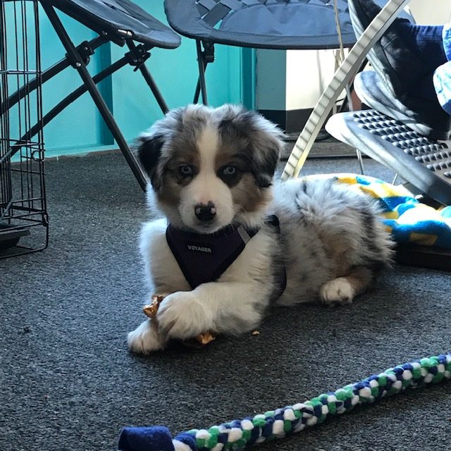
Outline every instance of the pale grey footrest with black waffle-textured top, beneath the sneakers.
[(376, 110), (332, 116), (326, 130), (397, 172), (441, 204), (451, 205), (450, 142), (433, 142)]

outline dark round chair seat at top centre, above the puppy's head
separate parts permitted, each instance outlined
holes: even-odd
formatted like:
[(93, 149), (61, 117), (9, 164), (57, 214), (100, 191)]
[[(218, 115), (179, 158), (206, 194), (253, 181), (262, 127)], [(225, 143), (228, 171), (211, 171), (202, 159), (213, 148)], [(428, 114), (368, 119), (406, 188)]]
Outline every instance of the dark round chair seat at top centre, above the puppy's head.
[[(181, 35), (264, 49), (339, 47), (333, 0), (165, 0), (169, 25)], [(352, 47), (347, 1), (337, 0), (344, 47)]]

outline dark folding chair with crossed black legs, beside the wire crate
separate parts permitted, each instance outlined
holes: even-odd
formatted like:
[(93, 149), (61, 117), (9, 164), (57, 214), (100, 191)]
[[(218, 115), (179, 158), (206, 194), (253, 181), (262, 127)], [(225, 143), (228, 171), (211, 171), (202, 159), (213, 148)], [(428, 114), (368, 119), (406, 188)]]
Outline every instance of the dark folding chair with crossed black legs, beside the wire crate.
[[(104, 80), (104, 78), (115, 73), (116, 70), (130, 64), (130, 66), (135, 67), (135, 70), (140, 70), (144, 80), (154, 94), (161, 111), (166, 113), (168, 111), (166, 101), (164, 101), (161, 92), (144, 63), (150, 56), (150, 49), (154, 47), (175, 49), (180, 45), (180, 37), (170, 27), (163, 25), (159, 20), (156, 20), (156, 18), (129, 0), (40, 0), (40, 3), (67, 53), (66, 57), (61, 61), (44, 70), (39, 81), (42, 81), (42, 83), (47, 82), (58, 73), (61, 73), (62, 70), (72, 66), (80, 74), (82, 85), (68, 94), (65, 99), (45, 114), (42, 121), (39, 121), (39, 123), (30, 128), (16, 143), (16, 148), (13, 153), (20, 149), (20, 142), (30, 140), (30, 137), (39, 132), (44, 125), (47, 125), (51, 119), (61, 113), (66, 106), (75, 101), (75, 99), (78, 99), (85, 92), (89, 92), (111, 134), (118, 143), (123, 156), (125, 156), (132, 169), (133, 174), (137, 178), (138, 183), (145, 190), (147, 182), (144, 173), (137, 163), (135, 156), (130, 151), (130, 147), (125, 141), (121, 130), (103, 97), (101, 97), (96, 85), (101, 80)], [(63, 27), (61, 20), (58, 18), (55, 8), (58, 8), (63, 13), (89, 27), (98, 36), (89, 42), (82, 42), (75, 47)], [(123, 58), (120, 58), (118, 61), (112, 63), (111, 66), (101, 70), (101, 72), (92, 77), (86, 68), (89, 63), (89, 57), (102, 44), (109, 41), (121, 47), (126, 45), (128, 51)], [(10, 109), (14, 104), (17, 104), (20, 99), (23, 99), (25, 95), (35, 89), (37, 84), (36, 79), (32, 80), (27, 85), (21, 87), (16, 93), (12, 94), (3, 105), (0, 105), (0, 114)]]

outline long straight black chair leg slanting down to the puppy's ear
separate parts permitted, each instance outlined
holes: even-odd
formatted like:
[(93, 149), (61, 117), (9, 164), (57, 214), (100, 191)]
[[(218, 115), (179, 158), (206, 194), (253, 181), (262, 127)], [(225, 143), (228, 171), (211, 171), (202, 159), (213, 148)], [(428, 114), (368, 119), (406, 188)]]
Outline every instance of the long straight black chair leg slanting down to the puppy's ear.
[(78, 70), (80, 78), (86, 85), (87, 90), (91, 95), (92, 100), (94, 101), (94, 104), (96, 104), (97, 109), (99, 109), (99, 112), (101, 113), (101, 116), (104, 118), (104, 121), (108, 126), (109, 130), (111, 131), (111, 134), (118, 143), (118, 146), (121, 149), (121, 152), (125, 157), (125, 160), (127, 161), (128, 165), (132, 170), (132, 173), (135, 175), (135, 178), (142, 187), (142, 190), (145, 191), (147, 187), (147, 180), (144, 176), (142, 168), (135, 159), (135, 156), (132, 154), (132, 151), (130, 150), (130, 147), (128, 146), (127, 142), (125, 141), (125, 137), (123, 136), (121, 130), (119, 129), (118, 124), (114, 120), (111, 111), (106, 105), (104, 99), (101, 97), (99, 89), (97, 89), (97, 86), (92, 80), (91, 75), (89, 75), (89, 72), (85, 65), (85, 61), (83, 61), (82, 57), (75, 48), (73, 42), (71, 42), (70, 37), (68, 36), (66, 30), (64, 29), (61, 20), (59, 20), (58, 16), (56, 15), (54, 8), (51, 5), (47, 4), (47, 1), (45, 0), (42, 0), (41, 4), (52, 26), (55, 29), (56, 34), (58, 35), (59, 39), (61, 40), (61, 43), (66, 49), (68, 53), (68, 58), (70, 59), (75, 69)]

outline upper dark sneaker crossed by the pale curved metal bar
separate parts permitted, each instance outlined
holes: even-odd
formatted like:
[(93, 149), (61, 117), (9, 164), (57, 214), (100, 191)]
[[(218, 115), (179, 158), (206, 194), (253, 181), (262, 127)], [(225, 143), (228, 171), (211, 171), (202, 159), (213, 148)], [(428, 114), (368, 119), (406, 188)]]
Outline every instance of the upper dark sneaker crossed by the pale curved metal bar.
[[(381, 8), (372, 0), (348, 0), (348, 5), (352, 27), (359, 37)], [(417, 71), (422, 68), (420, 58), (404, 44), (397, 33), (396, 26), (400, 21), (409, 20), (396, 18), (367, 56), (371, 66), (383, 80), (387, 80), (389, 88), (397, 97), (415, 89), (419, 78)]]

